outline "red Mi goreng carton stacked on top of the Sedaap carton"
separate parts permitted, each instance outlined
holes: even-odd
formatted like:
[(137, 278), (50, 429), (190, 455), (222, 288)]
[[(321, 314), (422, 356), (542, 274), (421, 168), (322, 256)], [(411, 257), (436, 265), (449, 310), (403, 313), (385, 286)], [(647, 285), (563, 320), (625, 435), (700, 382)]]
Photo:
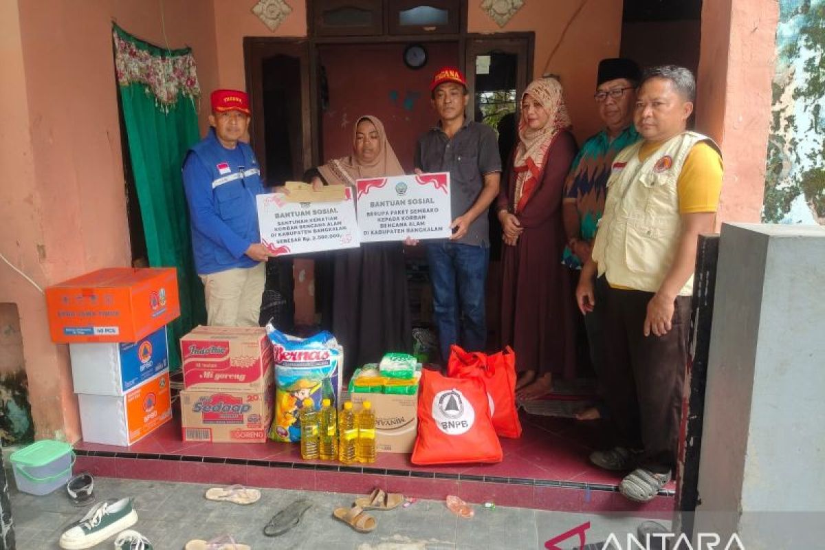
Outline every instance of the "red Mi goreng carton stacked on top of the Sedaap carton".
[(181, 360), (187, 390), (262, 393), (274, 381), (272, 345), (259, 327), (196, 327), (181, 338)]

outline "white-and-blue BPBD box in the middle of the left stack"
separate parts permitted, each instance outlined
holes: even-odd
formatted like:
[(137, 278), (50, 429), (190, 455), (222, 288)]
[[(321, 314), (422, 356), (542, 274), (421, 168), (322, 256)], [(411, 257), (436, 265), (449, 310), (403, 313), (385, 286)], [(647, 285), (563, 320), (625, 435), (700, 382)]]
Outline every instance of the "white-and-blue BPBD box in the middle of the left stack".
[(121, 396), (169, 368), (166, 327), (128, 344), (69, 344), (74, 393)]

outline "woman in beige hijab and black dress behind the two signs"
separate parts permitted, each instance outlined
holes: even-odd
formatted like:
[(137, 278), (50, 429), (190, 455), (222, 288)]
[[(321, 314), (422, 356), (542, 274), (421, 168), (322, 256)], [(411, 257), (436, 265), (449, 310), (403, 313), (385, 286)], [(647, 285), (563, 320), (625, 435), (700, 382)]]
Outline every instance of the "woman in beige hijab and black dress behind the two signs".
[[(403, 168), (375, 116), (361, 116), (352, 154), (333, 159), (318, 173), (323, 183), (350, 186), (365, 177), (403, 176)], [(317, 186), (320, 182), (314, 181)], [(335, 256), (332, 334), (344, 346), (344, 374), (377, 363), (388, 351), (412, 349), (407, 275), (400, 242), (370, 242)], [(345, 379), (346, 379), (345, 378)]]

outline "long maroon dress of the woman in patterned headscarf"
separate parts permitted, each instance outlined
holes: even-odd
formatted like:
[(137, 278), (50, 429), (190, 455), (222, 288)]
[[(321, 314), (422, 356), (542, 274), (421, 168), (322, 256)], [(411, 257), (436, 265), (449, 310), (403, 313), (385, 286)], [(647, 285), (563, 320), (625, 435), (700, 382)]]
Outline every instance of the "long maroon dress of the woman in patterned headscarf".
[[(576, 152), (573, 135), (560, 132), (547, 151), (539, 186), (516, 214), (524, 231), (515, 247), (504, 246), (502, 344), (516, 351), (520, 372), (575, 375), (575, 289), (561, 258), (562, 194)], [(513, 204), (516, 172), (508, 172), (507, 186), (497, 201), (499, 210)]]

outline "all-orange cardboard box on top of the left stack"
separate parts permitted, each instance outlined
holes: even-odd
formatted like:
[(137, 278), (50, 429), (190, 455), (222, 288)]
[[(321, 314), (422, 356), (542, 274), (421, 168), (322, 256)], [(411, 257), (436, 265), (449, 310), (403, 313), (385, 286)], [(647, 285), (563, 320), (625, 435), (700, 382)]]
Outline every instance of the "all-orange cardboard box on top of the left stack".
[(111, 267), (45, 290), (52, 341), (134, 342), (181, 314), (174, 268)]

